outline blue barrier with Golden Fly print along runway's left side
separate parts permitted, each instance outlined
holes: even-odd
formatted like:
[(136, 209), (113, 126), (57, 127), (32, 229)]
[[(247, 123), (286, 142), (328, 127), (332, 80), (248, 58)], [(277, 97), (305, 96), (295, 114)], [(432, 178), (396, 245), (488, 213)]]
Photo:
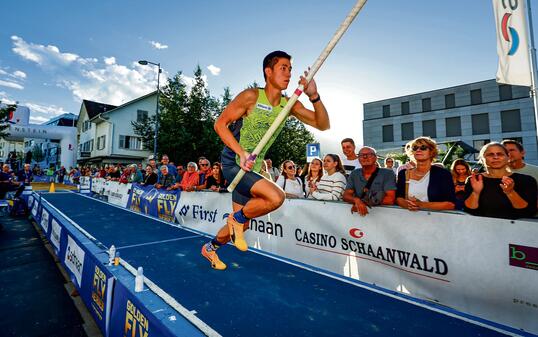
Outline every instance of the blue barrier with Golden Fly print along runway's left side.
[(108, 247), (85, 235), (84, 229), (38, 193), (34, 192), (28, 201), (33, 218), (103, 335), (203, 335), (154, 293), (135, 293), (133, 275), (122, 266), (108, 264)]

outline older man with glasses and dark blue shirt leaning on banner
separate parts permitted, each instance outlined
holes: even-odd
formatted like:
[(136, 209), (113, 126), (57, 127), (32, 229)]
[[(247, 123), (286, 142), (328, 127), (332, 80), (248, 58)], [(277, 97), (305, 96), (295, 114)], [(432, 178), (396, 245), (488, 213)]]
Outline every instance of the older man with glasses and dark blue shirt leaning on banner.
[(396, 198), (396, 176), (391, 169), (379, 168), (375, 149), (365, 146), (359, 151), (361, 168), (351, 172), (344, 201), (353, 204), (351, 211), (361, 216), (368, 214), (368, 207), (393, 205)]

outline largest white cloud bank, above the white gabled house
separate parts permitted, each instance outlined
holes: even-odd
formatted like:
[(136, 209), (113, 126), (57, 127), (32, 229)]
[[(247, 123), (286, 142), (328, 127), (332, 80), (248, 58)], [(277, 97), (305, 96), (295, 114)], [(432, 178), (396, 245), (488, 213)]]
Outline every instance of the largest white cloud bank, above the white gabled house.
[[(11, 39), (17, 55), (39, 65), (49, 73), (50, 84), (67, 88), (78, 102), (87, 99), (120, 105), (156, 89), (157, 71), (153, 66), (137, 62), (126, 66), (117, 64), (113, 56), (100, 61), (62, 52), (56, 46), (26, 42), (17, 36)], [(166, 82), (166, 77), (163, 72), (161, 83)]]

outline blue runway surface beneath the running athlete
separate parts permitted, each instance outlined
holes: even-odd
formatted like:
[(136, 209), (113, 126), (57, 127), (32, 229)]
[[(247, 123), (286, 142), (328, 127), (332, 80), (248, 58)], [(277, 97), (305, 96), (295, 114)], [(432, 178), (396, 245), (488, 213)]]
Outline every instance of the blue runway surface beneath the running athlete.
[(223, 336), (502, 336), (486, 327), (207, 238), (75, 193), (42, 198)]

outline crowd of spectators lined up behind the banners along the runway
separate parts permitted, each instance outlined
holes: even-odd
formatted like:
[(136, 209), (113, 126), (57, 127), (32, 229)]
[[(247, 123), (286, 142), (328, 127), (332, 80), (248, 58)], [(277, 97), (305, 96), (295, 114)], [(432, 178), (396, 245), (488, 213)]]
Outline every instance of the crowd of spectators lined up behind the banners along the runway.
[[(380, 158), (374, 148), (364, 146), (356, 151), (351, 138), (343, 139), (341, 146), (342, 156), (327, 154), (303, 167), (285, 160), (279, 170), (267, 158), (260, 174), (280, 186), (287, 198), (345, 201), (361, 216), (379, 205), (397, 205), (409, 211), (461, 210), (507, 219), (537, 214), (538, 166), (525, 163), (525, 150), (517, 141), (484, 145), (479, 154), (480, 170), (472, 170), (461, 158), (445, 169), (436, 162), (439, 150), (429, 137), (407, 143), (409, 161), (397, 168), (394, 158)], [(30, 169), (25, 164), (22, 170), (13, 172), (6, 164), (0, 172), (0, 197), (8, 191), (20, 193), (35, 176), (43, 175), (59, 183), (69, 180), (77, 184), (80, 177), (92, 176), (185, 192), (226, 192), (228, 184), (219, 162), (211, 164), (200, 157), (197, 162), (189, 162), (185, 170), (164, 154), (160, 161), (150, 158), (145, 167), (142, 163), (107, 164), (44, 171), (38, 165)]]

